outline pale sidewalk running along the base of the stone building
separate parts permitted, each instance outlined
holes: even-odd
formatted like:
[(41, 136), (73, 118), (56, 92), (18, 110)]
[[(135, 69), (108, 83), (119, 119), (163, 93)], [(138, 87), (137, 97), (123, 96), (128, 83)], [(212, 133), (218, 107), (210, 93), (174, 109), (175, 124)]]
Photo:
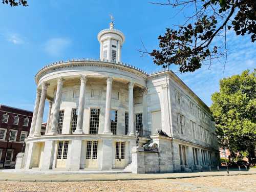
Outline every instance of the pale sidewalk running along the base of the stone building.
[(197, 172), (197, 173), (168, 173), (168, 174), (38, 174), (38, 173), (4, 173), (0, 170), (0, 181), (117, 181), (117, 180), (150, 180), (150, 179), (177, 179), (177, 178), (194, 178), (208, 176), (227, 176), (227, 175), (251, 175), (256, 174), (256, 168), (249, 170), (242, 169), (226, 170), (221, 169), (219, 172)]

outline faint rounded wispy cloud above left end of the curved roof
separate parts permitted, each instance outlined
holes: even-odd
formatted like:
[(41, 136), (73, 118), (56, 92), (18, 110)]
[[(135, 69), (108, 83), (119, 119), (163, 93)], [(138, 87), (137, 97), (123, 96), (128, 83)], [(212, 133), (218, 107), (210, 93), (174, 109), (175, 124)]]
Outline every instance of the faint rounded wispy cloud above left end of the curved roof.
[(44, 48), (49, 55), (59, 56), (70, 44), (71, 40), (68, 38), (51, 38), (46, 42)]

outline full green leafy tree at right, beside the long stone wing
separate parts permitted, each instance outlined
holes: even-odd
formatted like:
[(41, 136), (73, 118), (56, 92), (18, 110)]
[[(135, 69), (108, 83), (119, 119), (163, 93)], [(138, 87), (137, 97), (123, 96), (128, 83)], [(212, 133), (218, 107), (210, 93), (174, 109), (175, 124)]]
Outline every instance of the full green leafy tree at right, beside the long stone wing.
[(231, 153), (247, 152), (255, 163), (256, 70), (220, 80), (220, 92), (211, 95), (218, 140)]

